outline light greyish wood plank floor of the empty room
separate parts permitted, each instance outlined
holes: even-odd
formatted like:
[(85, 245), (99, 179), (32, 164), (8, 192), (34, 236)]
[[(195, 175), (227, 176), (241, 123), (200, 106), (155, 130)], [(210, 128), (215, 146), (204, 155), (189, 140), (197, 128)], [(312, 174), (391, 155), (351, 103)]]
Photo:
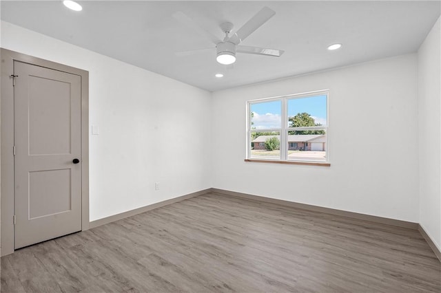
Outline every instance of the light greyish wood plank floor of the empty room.
[(1, 258), (1, 292), (441, 292), (416, 230), (207, 193)]

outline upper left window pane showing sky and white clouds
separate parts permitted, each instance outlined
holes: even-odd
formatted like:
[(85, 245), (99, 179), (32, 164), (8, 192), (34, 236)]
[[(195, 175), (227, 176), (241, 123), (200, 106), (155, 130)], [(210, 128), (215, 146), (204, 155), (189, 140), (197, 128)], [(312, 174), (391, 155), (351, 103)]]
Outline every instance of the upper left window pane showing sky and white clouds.
[(250, 105), (251, 129), (274, 129), (281, 127), (282, 102), (258, 102)]

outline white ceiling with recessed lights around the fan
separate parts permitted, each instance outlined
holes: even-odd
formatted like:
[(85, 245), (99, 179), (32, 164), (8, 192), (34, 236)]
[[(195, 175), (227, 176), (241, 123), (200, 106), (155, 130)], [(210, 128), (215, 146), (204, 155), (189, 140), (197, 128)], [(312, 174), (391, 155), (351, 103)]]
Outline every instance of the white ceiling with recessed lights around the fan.
[[(440, 1), (78, 2), (81, 12), (61, 1), (1, 1), (1, 19), (209, 91), (416, 52), (440, 16)], [(242, 44), (285, 50), (280, 58), (238, 53), (220, 65), (214, 49), (174, 54), (213, 46), (174, 12), (221, 39), (220, 23), (237, 30), (263, 6), (276, 15)], [(343, 47), (328, 51), (331, 43)]]

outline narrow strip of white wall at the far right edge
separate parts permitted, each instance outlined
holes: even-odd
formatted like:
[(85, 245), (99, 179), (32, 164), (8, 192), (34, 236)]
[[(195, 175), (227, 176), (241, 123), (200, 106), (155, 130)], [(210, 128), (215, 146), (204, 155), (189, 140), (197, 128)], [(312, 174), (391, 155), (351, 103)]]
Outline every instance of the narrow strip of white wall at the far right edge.
[(418, 50), (420, 225), (441, 250), (440, 19)]

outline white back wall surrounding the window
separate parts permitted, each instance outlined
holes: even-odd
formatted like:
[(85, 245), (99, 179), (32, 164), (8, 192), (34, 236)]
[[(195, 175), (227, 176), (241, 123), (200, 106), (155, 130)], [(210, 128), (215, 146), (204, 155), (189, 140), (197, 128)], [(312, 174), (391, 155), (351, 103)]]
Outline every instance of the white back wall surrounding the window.
[[(244, 162), (247, 100), (329, 89), (330, 167)], [(416, 54), (213, 94), (213, 187), (418, 222)]]

